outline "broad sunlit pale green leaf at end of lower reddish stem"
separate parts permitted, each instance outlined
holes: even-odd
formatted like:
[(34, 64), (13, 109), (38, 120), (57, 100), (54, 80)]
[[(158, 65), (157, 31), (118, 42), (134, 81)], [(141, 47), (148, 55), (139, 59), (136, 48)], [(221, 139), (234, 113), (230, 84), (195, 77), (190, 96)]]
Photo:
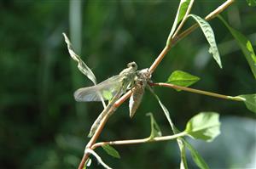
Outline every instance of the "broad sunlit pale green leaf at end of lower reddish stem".
[(187, 123), (185, 132), (187, 132), (191, 138), (210, 142), (220, 133), (218, 117), (218, 113), (215, 112), (202, 112), (195, 115)]

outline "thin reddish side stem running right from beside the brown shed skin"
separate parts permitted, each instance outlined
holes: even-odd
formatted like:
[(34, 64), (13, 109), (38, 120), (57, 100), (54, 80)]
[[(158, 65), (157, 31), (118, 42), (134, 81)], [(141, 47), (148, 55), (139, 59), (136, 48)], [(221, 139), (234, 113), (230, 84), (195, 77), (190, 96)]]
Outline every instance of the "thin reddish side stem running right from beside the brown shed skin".
[(230, 100), (234, 100), (234, 101), (243, 101), (243, 99), (241, 99), (239, 97), (232, 97), (232, 96), (227, 96), (227, 95), (218, 94), (218, 93), (206, 92), (206, 91), (198, 90), (198, 89), (195, 89), (195, 88), (181, 87), (181, 86), (177, 86), (177, 85), (169, 84), (169, 83), (165, 83), (165, 82), (150, 83), (149, 85), (150, 86), (159, 86), (159, 87), (170, 87), (170, 88), (174, 88), (174, 89), (178, 89), (178, 90), (184, 90), (184, 91), (191, 92), (191, 93), (204, 94), (204, 95), (207, 95), (207, 96), (212, 96), (212, 97), (220, 98), (220, 99), (230, 99)]

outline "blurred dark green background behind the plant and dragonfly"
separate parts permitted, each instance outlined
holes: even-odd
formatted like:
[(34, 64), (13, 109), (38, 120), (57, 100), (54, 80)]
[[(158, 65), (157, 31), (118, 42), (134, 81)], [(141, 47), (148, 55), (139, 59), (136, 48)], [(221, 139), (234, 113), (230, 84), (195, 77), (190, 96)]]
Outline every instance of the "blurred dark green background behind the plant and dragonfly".
[[(195, 1), (193, 14), (209, 14), (223, 1)], [(116, 75), (128, 62), (151, 65), (166, 44), (178, 1), (0, 1), (0, 168), (76, 168), (100, 103), (75, 103), (73, 92), (92, 83), (76, 68), (61, 33), (66, 32), (97, 81)], [(256, 45), (256, 10), (237, 1), (222, 14)], [(185, 27), (193, 24), (189, 20)], [(255, 93), (247, 61), (219, 20), (211, 20), (224, 69), (207, 53), (198, 29), (172, 48), (152, 77), (166, 82), (173, 70), (200, 76), (193, 87), (231, 96)], [(217, 111), (222, 134), (210, 143), (192, 142), (212, 168), (256, 168), (255, 115), (241, 103), (170, 88), (155, 88), (180, 130), (200, 111)], [(130, 119), (127, 101), (108, 121), (100, 140), (145, 138), (146, 113), (164, 134), (170, 127), (157, 101), (146, 92)], [(120, 160), (96, 149), (113, 168), (178, 168), (175, 141), (116, 146)], [(254, 155), (254, 156), (253, 156)], [(250, 160), (251, 158), (251, 160)], [(249, 166), (248, 166), (249, 165)], [(251, 165), (251, 166), (250, 166)], [(196, 168), (189, 161), (190, 168)], [(97, 166), (93, 160), (91, 168)]]

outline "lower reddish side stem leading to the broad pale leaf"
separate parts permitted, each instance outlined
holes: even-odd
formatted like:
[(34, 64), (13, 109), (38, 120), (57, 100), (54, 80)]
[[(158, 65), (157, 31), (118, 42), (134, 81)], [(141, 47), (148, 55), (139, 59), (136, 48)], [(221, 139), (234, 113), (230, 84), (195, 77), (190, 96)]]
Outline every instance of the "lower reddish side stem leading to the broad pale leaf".
[(179, 132), (177, 134), (171, 135), (171, 136), (161, 136), (161, 137), (155, 137), (155, 138), (142, 138), (142, 139), (131, 139), (131, 140), (118, 140), (118, 141), (110, 141), (110, 142), (101, 142), (94, 144), (91, 149), (96, 149), (97, 147), (100, 147), (102, 145), (123, 145), (123, 144), (144, 144), (149, 142), (159, 142), (159, 141), (166, 141), (171, 140), (179, 137), (183, 137), (187, 134), (187, 132)]

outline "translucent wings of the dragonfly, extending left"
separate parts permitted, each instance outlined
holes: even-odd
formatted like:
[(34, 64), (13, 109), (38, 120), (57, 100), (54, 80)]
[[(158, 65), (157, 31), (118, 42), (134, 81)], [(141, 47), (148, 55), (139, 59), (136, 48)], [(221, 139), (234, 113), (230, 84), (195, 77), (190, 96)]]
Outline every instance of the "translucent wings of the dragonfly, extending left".
[[(108, 92), (114, 95), (121, 87), (122, 76), (113, 76), (92, 87), (83, 87), (75, 91), (74, 98), (79, 102), (101, 101), (100, 93)], [(103, 99), (107, 100), (103, 97)]]

